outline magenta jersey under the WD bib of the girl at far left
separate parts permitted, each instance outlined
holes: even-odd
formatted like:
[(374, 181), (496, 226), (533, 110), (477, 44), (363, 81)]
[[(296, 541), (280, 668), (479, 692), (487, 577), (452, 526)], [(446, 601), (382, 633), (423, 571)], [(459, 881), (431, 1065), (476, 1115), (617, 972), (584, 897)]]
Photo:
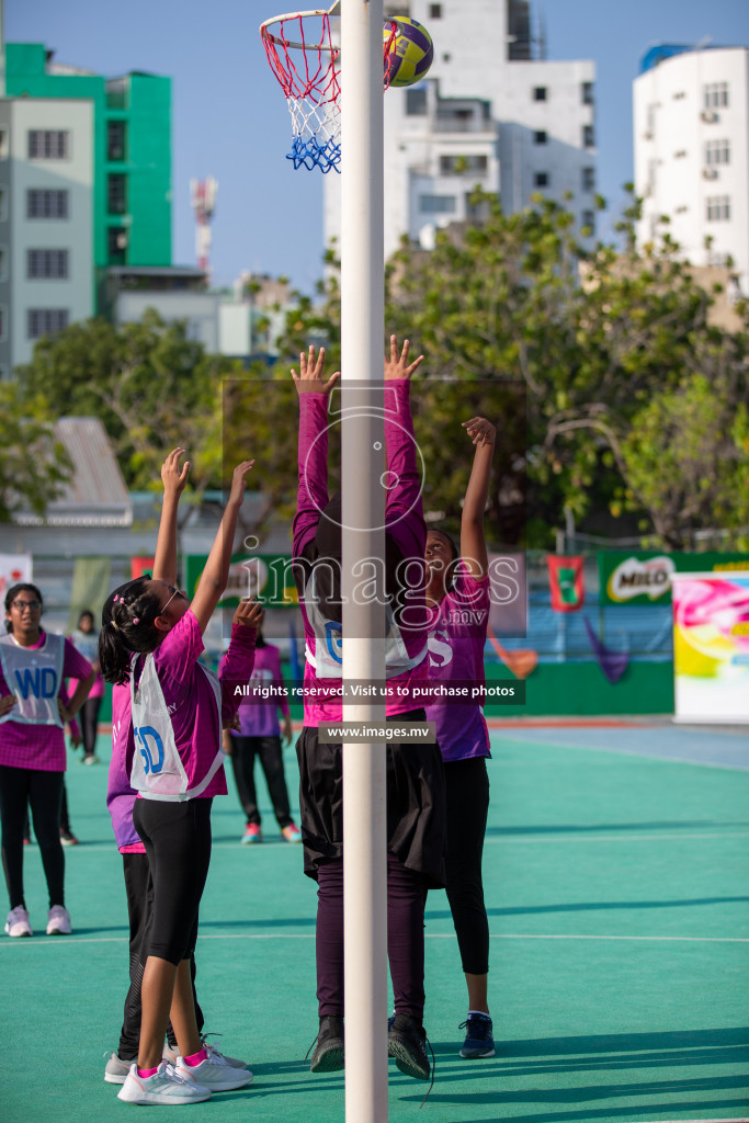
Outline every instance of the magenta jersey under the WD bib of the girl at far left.
[[(33, 647), (21, 648), (28, 652), (28, 665), (33, 670), (34, 651), (44, 648), (47, 633), (42, 632), (38, 642)], [(68, 639), (65, 640), (63, 655), (63, 679), (88, 678), (91, 664), (75, 650)], [(13, 693), (0, 667), (0, 696)], [(67, 701), (64, 683), (60, 684), (58, 696)], [(0, 723), (0, 765), (11, 768), (34, 768), (39, 772), (65, 772), (65, 731), (62, 725), (29, 725), (13, 721), (10, 716)]]

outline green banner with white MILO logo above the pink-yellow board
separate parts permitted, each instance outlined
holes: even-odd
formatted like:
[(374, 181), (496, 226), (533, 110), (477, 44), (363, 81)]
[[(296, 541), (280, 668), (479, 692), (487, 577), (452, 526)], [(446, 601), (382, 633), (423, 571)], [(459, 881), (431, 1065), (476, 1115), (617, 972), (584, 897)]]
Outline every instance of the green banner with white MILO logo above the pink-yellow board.
[(749, 569), (749, 554), (600, 550), (601, 604), (669, 604), (674, 573)]

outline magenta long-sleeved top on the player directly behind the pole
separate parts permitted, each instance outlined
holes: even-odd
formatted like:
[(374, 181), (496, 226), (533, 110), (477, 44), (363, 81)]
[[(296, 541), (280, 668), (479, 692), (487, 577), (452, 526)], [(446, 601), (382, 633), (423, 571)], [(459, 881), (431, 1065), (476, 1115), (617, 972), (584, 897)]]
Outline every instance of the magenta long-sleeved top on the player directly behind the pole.
[[(409, 687), (427, 679), (426, 640), (429, 617), (423, 601), (423, 554), (427, 528), (421, 508), (421, 480), (417, 471), (415, 440), (410, 410), (408, 378), (385, 383), (385, 442), (387, 467), (394, 486), (389, 487), (385, 522), (393, 549), (410, 563), (408, 606), (399, 621), (402, 640), (401, 658), (408, 669), (389, 678), (393, 687), (387, 700), (387, 714), (405, 713), (420, 705), (410, 696)], [(294, 559), (314, 562), (316, 535), (320, 514), (329, 502), (328, 495), (328, 399), (326, 394), (300, 394), (299, 399), (299, 491), (294, 517)], [(311, 574), (314, 574), (312, 566)], [(323, 661), (340, 665), (340, 624), (329, 650), (319, 649), (319, 636), (310, 611), (310, 576), (301, 590), (300, 608), (304, 622), (307, 664), (304, 666), (304, 724), (340, 721), (340, 676), (320, 672)], [(332, 636), (336, 628), (331, 629)], [(400, 690), (396, 690), (400, 687)], [(403, 688), (405, 687), (405, 690)]]

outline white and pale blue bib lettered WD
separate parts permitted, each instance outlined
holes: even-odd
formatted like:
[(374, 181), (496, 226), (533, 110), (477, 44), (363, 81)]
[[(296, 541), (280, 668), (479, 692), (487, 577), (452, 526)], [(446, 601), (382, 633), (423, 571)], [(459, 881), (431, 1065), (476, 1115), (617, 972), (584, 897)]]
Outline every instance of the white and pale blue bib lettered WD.
[(0, 718), (25, 725), (57, 725), (63, 721), (57, 695), (63, 682), (65, 637), (45, 632), (44, 647), (21, 647), (12, 634), (0, 638), (0, 663), (8, 688), (18, 699), (13, 709)]

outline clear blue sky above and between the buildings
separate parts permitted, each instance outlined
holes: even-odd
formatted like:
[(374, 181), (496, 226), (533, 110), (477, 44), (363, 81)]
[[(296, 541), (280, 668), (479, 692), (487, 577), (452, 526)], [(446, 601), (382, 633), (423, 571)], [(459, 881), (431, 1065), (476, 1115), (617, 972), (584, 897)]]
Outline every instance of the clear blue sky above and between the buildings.
[[(455, 2), (455, 0), (454, 0)], [(174, 263), (195, 261), (190, 180), (219, 181), (213, 275), (284, 274), (311, 292), (321, 273), (322, 176), (284, 158), (290, 117), (258, 26), (289, 0), (6, 0), (9, 42), (115, 76), (173, 79)], [(749, 45), (749, 0), (535, 0), (549, 58), (596, 64), (599, 185), (612, 222), (632, 175), (632, 80), (654, 43)], [(603, 234), (606, 234), (604, 223)]]

